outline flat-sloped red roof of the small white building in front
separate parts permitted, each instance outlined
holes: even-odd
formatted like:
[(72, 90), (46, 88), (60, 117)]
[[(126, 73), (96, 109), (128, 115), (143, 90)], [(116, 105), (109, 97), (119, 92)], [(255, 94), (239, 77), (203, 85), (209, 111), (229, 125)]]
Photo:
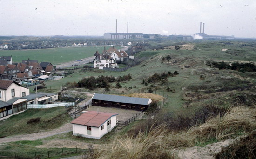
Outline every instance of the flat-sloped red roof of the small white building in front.
[(84, 126), (100, 127), (110, 117), (115, 116), (115, 115), (118, 115), (118, 114), (97, 112), (97, 111), (88, 111), (88, 112), (83, 113), (80, 117), (71, 121), (71, 123), (84, 125)]

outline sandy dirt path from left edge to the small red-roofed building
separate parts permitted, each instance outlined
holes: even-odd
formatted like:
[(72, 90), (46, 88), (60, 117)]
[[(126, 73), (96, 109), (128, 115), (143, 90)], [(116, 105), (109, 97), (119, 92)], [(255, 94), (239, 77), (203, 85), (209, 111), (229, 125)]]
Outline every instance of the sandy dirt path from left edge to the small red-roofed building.
[(49, 136), (53, 136), (53, 135), (57, 135), (57, 134), (61, 134), (61, 133), (67, 133), (70, 131), (72, 131), (72, 124), (67, 123), (58, 129), (54, 129), (54, 130), (47, 131), (47, 132), (31, 133), (31, 134), (26, 134), (26, 135), (16, 135), (16, 136), (11, 136), (11, 137), (7, 137), (7, 138), (1, 138), (0, 144), (6, 143), (6, 142), (22, 141), (22, 140), (43, 139), (43, 138), (47, 138)]

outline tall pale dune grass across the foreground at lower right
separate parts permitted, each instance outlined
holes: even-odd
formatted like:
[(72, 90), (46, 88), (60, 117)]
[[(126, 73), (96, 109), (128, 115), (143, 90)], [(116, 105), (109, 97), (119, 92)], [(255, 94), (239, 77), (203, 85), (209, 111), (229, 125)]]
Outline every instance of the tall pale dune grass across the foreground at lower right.
[(256, 130), (256, 112), (244, 106), (230, 108), (223, 116), (216, 116), (205, 123), (189, 130), (170, 131), (169, 123), (158, 126), (156, 122), (146, 131), (136, 136), (116, 137), (115, 140), (99, 147), (95, 158), (99, 159), (170, 159), (175, 158), (176, 148), (194, 146), (198, 139), (201, 142), (216, 138), (218, 140), (233, 138), (241, 133)]

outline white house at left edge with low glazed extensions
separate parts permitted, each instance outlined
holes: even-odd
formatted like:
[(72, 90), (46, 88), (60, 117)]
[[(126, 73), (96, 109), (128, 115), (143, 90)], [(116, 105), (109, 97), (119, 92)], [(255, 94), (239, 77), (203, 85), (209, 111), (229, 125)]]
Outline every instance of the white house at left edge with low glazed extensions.
[(29, 93), (29, 89), (13, 80), (0, 80), (0, 120), (27, 109), (29, 104), (47, 104), (58, 99), (55, 93)]

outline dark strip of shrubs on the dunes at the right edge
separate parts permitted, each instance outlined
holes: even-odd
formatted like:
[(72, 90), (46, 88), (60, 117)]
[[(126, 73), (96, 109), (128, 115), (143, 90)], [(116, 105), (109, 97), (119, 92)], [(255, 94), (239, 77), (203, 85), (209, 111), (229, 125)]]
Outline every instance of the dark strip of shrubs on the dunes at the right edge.
[[(207, 62), (206, 65), (211, 66), (210, 62)], [(238, 63), (234, 62), (231, 65), (226, 62), (212, 62), (212, 65), (218, 69), (230, 69), (230, 70), (236, 70), (239, 72), (256, 72), (256, 66), (253, 63)]]

